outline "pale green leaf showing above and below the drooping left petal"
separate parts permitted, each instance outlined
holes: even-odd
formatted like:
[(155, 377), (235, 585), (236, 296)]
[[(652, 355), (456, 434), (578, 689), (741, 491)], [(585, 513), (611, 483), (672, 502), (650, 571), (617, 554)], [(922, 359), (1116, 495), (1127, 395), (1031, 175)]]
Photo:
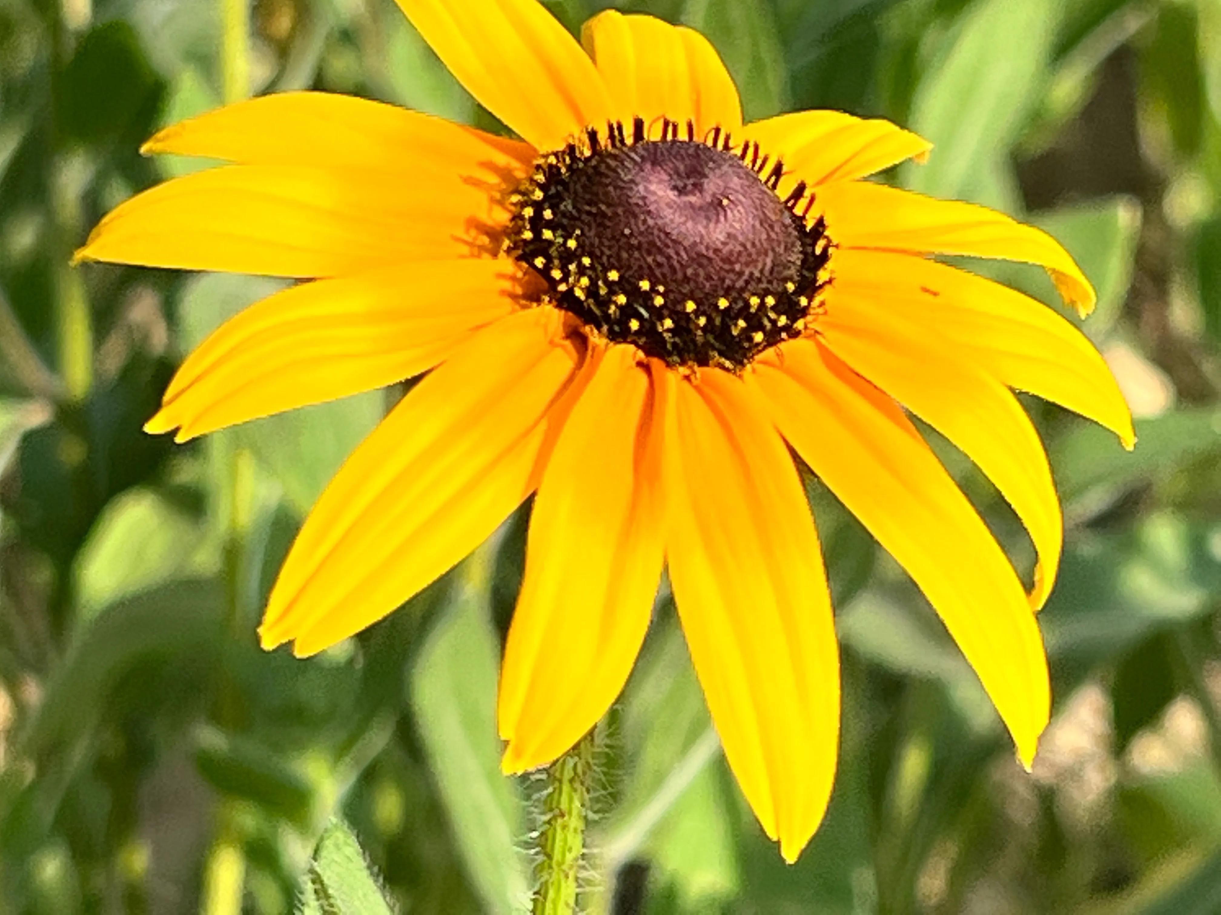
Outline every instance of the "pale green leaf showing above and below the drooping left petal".
[[(179, 339), (189, 350), (247, 305), (282, 289), (261, 277), (212, 273), (188, 283), (179, 305)], [(382, 416), (381, 392), (291, 410), (234, 427), (234, 444), (248, 448), (305, 514), (344, 459)]]

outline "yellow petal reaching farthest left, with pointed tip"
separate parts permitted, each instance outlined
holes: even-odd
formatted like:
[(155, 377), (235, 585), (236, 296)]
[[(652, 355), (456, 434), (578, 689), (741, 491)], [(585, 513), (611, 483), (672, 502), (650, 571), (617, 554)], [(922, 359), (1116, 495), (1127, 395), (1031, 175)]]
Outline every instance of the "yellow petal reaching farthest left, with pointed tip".
[(280, 277), (332, 277), (486, 251), (507, 214), (444, 163), (413, 181), (361, 171), (228, 165), (112, 210), (79, 260)]

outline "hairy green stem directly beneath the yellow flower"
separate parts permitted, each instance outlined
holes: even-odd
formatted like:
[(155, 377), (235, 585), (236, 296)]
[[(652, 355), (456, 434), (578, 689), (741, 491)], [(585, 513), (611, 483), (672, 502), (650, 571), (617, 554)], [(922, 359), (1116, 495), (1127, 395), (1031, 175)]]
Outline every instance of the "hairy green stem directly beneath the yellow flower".
[(547, 769), (531, 915), (573, 915), (593, 780), (593, 731)]

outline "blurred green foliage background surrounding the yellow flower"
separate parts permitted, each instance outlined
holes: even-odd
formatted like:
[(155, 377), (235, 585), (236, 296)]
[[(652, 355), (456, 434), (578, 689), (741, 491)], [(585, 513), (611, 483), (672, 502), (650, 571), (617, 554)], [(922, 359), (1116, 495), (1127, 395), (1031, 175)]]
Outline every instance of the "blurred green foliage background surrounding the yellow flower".
[[(606, 5), (548, 4), (573, 29)], [(724, 766), (663, 594), (601, 741), (590, 906), (1221, 911), (1221, 2), (625, 6), (703, 30), (750, 117), (893, 118), (938, 148), (889, 179), (1056, 234), (1099, 289), (1084, 327), (1140, 443), (1029, 401), (1067, 523), (1033, 775), (912, 586), (810, 481), (845, 723), (792, 867)], [(392, 0), (248, 12), (252, 92), (490, 123)], [(311, 864), (337, 815), (399, 911), (514, 911), (537, 783), (498, 775), (492, 709), (525, 515), (359, 638), (264, 654), (294, 529), (396, 393), (172, 447), (140, 425), (175, 364), (277, 283), (68, 266), (106, 210), (198, 167), (136, 150), (220, 104), (221, 46), (211, 0), (0, 0), (0, 913), (386, 910), (371, 883), (320, 903), (357, 854), (335, 828)], [(1053, 300), (1037, 271), (996, 276)], [(934, 444), (1028, 571), (1013, 516)]]

